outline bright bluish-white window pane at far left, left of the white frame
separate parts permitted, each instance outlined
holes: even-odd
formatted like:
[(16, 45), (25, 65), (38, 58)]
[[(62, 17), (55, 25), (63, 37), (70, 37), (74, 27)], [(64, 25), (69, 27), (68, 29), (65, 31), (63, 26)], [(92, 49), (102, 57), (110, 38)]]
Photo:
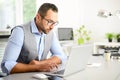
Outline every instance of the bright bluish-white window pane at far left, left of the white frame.
[(15, 0), (0, 0), (0, 28), (15, 24)]

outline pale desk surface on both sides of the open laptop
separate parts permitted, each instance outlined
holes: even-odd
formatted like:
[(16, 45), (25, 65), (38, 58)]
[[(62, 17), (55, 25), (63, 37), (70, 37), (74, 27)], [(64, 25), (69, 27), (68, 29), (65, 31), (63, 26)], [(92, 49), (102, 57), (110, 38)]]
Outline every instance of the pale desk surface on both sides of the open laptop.
[[(101, 65), (87, 66), (85, 70), (73, 74), (69, 77), (65, 77), (65, 80), (120, 80), (120, 61), (104, 61), (102, 56), (90, 58), (89, 64), (95, 63), (99, 63)], [(7, 77), (3, 77), (0, 80), (37, 80), (32, 78), (32, 75), (36, 73), (38, 72), (12, 74)], [(64, 79), (56, 77), (51, 80)]]

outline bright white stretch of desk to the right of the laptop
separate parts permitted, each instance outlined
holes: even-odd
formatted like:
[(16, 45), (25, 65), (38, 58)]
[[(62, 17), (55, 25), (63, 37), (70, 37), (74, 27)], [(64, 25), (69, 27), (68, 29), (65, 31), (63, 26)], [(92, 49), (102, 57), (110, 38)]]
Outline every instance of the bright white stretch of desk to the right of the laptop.
[[(102, 57), (97, 58), (102, 60)], [(68, 77), (67, 80), (120, 80), (120, 61), (94, 62), (101, 63), (101, 66), (87, 67), (86, 70)]]

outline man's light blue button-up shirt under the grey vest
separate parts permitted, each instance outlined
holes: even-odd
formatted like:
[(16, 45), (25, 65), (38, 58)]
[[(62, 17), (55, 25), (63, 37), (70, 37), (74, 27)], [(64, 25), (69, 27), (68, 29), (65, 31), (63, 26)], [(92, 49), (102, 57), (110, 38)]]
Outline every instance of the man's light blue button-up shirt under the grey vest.
[[(31, 29), (36, 39), (36, 43), (37, 43), (36, 46), (37, 46), (37, 51), (38, 51), (39, 60), (40, 60), (44, 50), (44, 37), (46, 36), (46, 34), (40, 33), (38, 31), (34, 20), (31, 21)], [(21, 52), (23, 41), (24, 41), (23, 29), (20, 27), (16, 27), (12, 31), (12, 34), (9, 37), (9, 40), (5, 49), (4, 57), (1, 63), (1, 68), (3, 72), (9, 74), (12, 68), (17, 64), (16, 60), (18, 59), (18, 56)], [(64, 52), (62, 51), (62, 48), (56, 36), (53, 36), (53, 41), (52, 41), (52, 46), (50, 48), (50, 51), (53, 56), (59, 57), (62, 63), (64, 63), (65, 60), (67, 59)]]

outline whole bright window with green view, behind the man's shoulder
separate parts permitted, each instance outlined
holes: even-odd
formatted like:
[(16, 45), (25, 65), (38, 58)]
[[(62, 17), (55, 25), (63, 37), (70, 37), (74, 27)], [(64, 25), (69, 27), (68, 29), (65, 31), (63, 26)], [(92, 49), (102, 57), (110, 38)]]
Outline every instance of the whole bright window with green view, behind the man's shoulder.
[(26, 23), (35, 13), (36, 0), (0, 0), (0, 29)]

